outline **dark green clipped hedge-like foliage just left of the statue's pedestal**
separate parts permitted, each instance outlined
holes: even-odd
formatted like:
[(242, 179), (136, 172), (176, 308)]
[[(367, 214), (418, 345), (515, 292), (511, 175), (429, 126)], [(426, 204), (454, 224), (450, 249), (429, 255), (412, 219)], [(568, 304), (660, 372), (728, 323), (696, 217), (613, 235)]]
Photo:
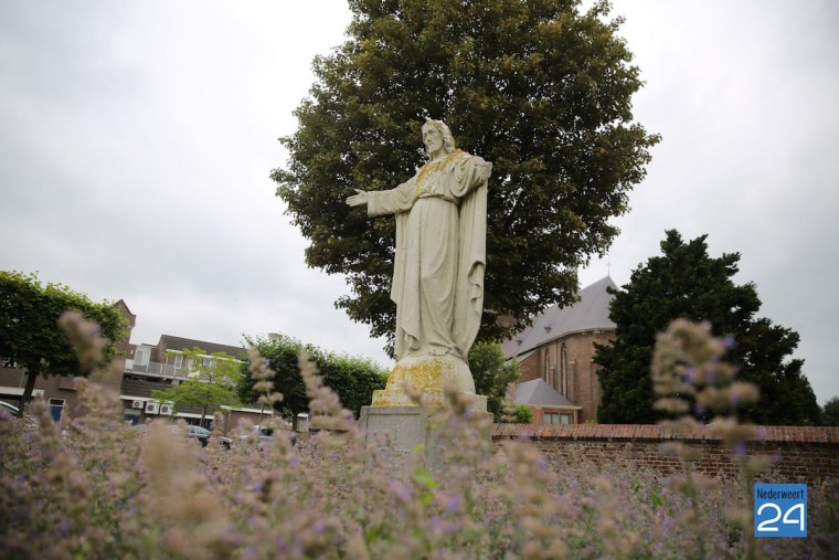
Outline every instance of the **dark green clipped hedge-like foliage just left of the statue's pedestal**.
[[(255, 346), (259, 355), (269, 361), (270, 369), (276, 371), (274, 390), (283, 393), (283, 401), (276, 403), (275, 408), (294, 418), (297, 418), (298, 412), (309, 410), (309, 398), (298, 367), (298, 356), (304, 350), (317, 363), (323, 383), (338, 394), (343, 406), (355, 416), (360, 414), (361, 406), (370, 404), (373, 391), (384, 389), (387, 381), (387, 372), (370, 359), (336, 355), (284, 335), (272, 335), (255, 341), (248, 339), (247, 342)], [(242, 371), (246, 372), (248, 364), (243, 364)], [(244, 402), (256, 402), (258, 395), (248, 374), (242, 376), (238, 394)]]

